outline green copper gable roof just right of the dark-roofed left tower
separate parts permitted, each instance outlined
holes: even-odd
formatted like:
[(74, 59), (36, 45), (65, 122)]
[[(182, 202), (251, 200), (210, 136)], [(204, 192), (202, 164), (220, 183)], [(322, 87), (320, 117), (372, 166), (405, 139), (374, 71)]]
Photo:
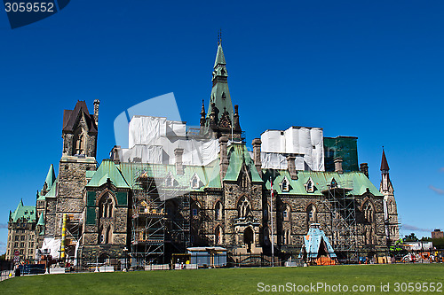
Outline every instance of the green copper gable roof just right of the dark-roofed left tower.
[(130, 188), (123, 175), (115, 166), (115, 163), (111, 159), (104, 159), (97, 169), (96, 173), (92, 176), (90, 182), (86, 184), (87, 187), (99, 187), (107, 183), (107, 179), (115, 185), (117, 188)]

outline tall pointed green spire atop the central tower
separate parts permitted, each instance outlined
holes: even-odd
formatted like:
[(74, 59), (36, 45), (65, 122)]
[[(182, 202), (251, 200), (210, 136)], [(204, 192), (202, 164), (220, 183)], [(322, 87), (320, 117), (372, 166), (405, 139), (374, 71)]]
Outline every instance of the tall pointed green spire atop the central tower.
[[(233, 104), (231, 102), (230, 90), (228, 89), (228, 73), (226, 72), (226, 60), (224, 50), (222, 50), (222, 43), (218, 42), (218, 53), (214, 61), (213, 70), (213, 87), (211, 89), (210, 105), (208, 108), (207, 118), (210, 118), (210, 113), (213, 112), (213, 104), (216, 108), (214, 111), (217, 114), (216, 119), (220, 121), (224, 112), (228, 114), (228, 118), (233, 118)], [(207, 120), (209, 121), (209, 120)]]

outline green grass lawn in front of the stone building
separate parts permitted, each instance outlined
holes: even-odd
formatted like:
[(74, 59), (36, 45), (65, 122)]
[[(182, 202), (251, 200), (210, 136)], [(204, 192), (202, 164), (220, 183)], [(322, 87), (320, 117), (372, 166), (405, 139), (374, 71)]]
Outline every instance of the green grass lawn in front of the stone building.
[[(395, 291), (394, 283), (444, 283), (442, 264), (354, 265), (309, 268), (227, 268), (196, 270), (140, 271), (129, 273), (88, 273), (14, 277), (0, 283), (0, 294), (252, 294), (258, 293), (258, 283), (269, 285), (296, 284), (295, 293), (353, 293), (353, 285), (363, 285), (370, 294), (424, 294), (424, 286), (413, 284), (414, 291)], [(317, 290), (297, 291), (297, 285), (323, 283)], [(334, 291), (341, 284), (348, 292)], [(381, 291), (381, 283), (390, 283)], [(330, 291), (326, 285), (331, 288)], [(367, 286), (375, 286), (375, 289)], [(439, 286), (439, 285), (438, 285)], [(400, 288), (402, 286), (400, 285)], [(404, 285), (408, 288), (408, 285)], [(279, 288), (279, 287), (276, 287)], [(293, 288), (293, 286), (291, 287)], [(301, 288), (301, 287), (299, 287)], [(326, 289), (327, 288), (327, 289)], [(361, 287), (363, 288), (363, 287)], [(260, 288), (259, 288), (260, 289)], [(282, 291), (282, 290), (281, 290)], [(429, 291), (430, 292), (430, 291)], [(444, 294), (444, 287), (440, 292)]]

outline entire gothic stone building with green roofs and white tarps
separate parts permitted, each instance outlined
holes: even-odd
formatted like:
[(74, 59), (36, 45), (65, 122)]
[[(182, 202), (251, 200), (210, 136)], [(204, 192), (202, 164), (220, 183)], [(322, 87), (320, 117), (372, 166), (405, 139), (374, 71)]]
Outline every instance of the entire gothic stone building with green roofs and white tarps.
[(141, 135), (144, 124), (161, 130), (157, 144), (132, 138), (133, 146), (115, 146), (99, 165), (99, 101), (93, 113), (83, 101), (65, 110), (59, 175), (50, 167), (26, 222), (22, 204), (12, 213), (8, 257), (31, 253), (32, 244), (14, 244), (18, 230), (28, 230), (32, 253), (58, 257), (61, 243), (68, 260), (81, 263), (127, 253), (137, 263), (162, 262), (189, 246), (223, 246), (235, 260), (269, 255), (272, 236), (274, 252), (287, 259), (296, 257), (313, 223), (339, 260), (385, 252), (399, 236), (385, 152), (377, 190), (368, 165), (358, 166), (356, 137), (324, 137), (321, 128), (267, 130), (249, 151), (227, 76), (219, 43), (200, 126), (192, 132), (182, 122), (135, 116), (130, 126)]

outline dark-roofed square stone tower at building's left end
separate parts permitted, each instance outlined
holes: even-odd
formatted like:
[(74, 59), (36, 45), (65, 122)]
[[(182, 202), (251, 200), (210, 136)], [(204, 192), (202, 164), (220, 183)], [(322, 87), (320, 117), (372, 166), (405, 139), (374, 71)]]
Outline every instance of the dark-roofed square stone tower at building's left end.
[[(84, 101), (77, 101), (74, 110), (63, 113), (63, 152), (59, 161), (57, 192), (46, 198), (45, 236), (60, 238), (63, 214), (67, 213), (67, 249), (75, 241), (75, 226), (82, 218), (83, 189), (87, 172), (97, 168), (96, 147), (98, 135), (99, 100), (94, 101), (94, 113)], [(72, 228), (70, 228), (72, 227)], [(72, 249), (74, 252), (74, 249)]]

